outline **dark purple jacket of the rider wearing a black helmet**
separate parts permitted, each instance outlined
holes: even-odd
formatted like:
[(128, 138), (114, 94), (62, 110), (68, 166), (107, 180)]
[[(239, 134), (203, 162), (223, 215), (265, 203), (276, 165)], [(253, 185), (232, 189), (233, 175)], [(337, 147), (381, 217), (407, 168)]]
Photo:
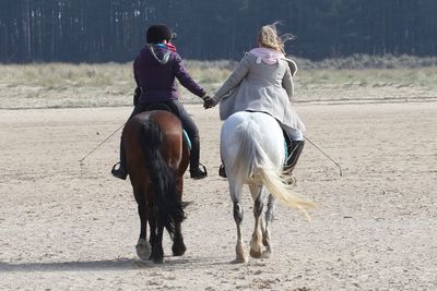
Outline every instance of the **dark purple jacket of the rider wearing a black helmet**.
[[(149, 47), (144, 47), (133, 62), (137, 86), (142, 88), (140, 104), (178, 99), (175, 77), (192, 94), (199, 97), (205, 95), (204, 89), (192, 80), (177, 52), (161, 46), (153, 46), (153, 51), (154, 53)], [(165, 54), (168, 54), (168, 61), (165, 60)]]

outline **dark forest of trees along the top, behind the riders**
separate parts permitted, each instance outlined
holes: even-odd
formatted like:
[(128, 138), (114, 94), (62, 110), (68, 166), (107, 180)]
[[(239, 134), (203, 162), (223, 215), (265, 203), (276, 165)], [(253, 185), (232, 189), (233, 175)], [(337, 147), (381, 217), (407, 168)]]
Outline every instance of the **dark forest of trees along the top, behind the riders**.
[(275, 21), (300, 58), (436, 56), (435, 15), (435, 0), (0, 0), (0, 62), (130, 61), (155, 23), (185, 58), (240, 59)]

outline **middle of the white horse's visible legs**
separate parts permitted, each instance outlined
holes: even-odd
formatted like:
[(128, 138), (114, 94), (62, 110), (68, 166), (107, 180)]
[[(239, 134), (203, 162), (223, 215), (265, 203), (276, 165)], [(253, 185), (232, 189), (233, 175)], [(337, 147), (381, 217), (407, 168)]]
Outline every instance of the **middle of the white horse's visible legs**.
[(249, 186), (252, 198), (255, 199), (253, 205), (253, 217), (255, 217), (255, 229), (252, 239), (250, 240), (250, 256), (260, 258), (262, 256), (262, 231), (261, 231), (261, 214), (263, 208), (263, 187), (262, 186)]

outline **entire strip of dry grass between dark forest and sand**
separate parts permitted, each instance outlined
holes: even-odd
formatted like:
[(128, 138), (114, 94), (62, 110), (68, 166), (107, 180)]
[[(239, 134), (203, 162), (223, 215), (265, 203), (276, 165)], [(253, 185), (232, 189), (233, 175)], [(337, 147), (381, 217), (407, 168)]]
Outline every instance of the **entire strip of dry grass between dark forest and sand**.
[[(297, 101), (435, 98), (437, 62), (433, 58), (355, 56), (323, 62), (298, 59), (297, 63)], [(213, 95), (236, 62), (186, 64)], [(0, 65), (0, 108), (130, 106), (133, 89), (131, 63)], [(184, 102), (200, 102), (185, 88), (181, 95)]]

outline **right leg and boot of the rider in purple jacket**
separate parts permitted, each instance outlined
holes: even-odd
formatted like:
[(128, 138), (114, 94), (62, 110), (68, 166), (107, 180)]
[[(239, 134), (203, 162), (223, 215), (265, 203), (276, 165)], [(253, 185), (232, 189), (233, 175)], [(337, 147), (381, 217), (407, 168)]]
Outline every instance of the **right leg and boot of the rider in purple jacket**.
[(200, 138), (198, 126), (179, 101), (174, 100), (173, 104), (177, 107), (179, 119), (182, 122), (182, 128), (191, 140), (190, 175), (192, 179), (203, 179), (208, 175), (208, 173), (204, 167), (203, 170), (199, 168)]

